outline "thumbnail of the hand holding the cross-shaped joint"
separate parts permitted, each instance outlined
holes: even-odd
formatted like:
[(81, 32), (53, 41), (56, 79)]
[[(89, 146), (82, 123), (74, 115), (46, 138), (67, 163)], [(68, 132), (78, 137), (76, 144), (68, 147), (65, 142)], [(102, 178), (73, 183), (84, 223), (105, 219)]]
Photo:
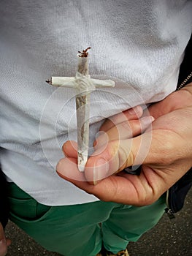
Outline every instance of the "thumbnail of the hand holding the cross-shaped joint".
[(93, 167), (93, 184), (98, 184), (98, 181), (106, 178), (109, 170), (109, 164), (104, 158), (99, 158)]

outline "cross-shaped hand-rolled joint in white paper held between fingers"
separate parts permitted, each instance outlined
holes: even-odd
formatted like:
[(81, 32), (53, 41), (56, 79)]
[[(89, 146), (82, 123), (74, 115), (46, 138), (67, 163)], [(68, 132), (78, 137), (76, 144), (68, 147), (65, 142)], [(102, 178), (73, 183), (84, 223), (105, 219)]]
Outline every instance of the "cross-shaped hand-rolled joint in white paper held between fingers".
[(78, 55), (78, 68), (75, 77), (52, 77), (46, 80), (52, 86), (72, 87), (77, 90), (77, 161), (78, 169), (83, 172), (88, 160), (90, 94), (96, 87), (114, 87), (112, 80), (92, 79), (88, 74), (88, 50)]

